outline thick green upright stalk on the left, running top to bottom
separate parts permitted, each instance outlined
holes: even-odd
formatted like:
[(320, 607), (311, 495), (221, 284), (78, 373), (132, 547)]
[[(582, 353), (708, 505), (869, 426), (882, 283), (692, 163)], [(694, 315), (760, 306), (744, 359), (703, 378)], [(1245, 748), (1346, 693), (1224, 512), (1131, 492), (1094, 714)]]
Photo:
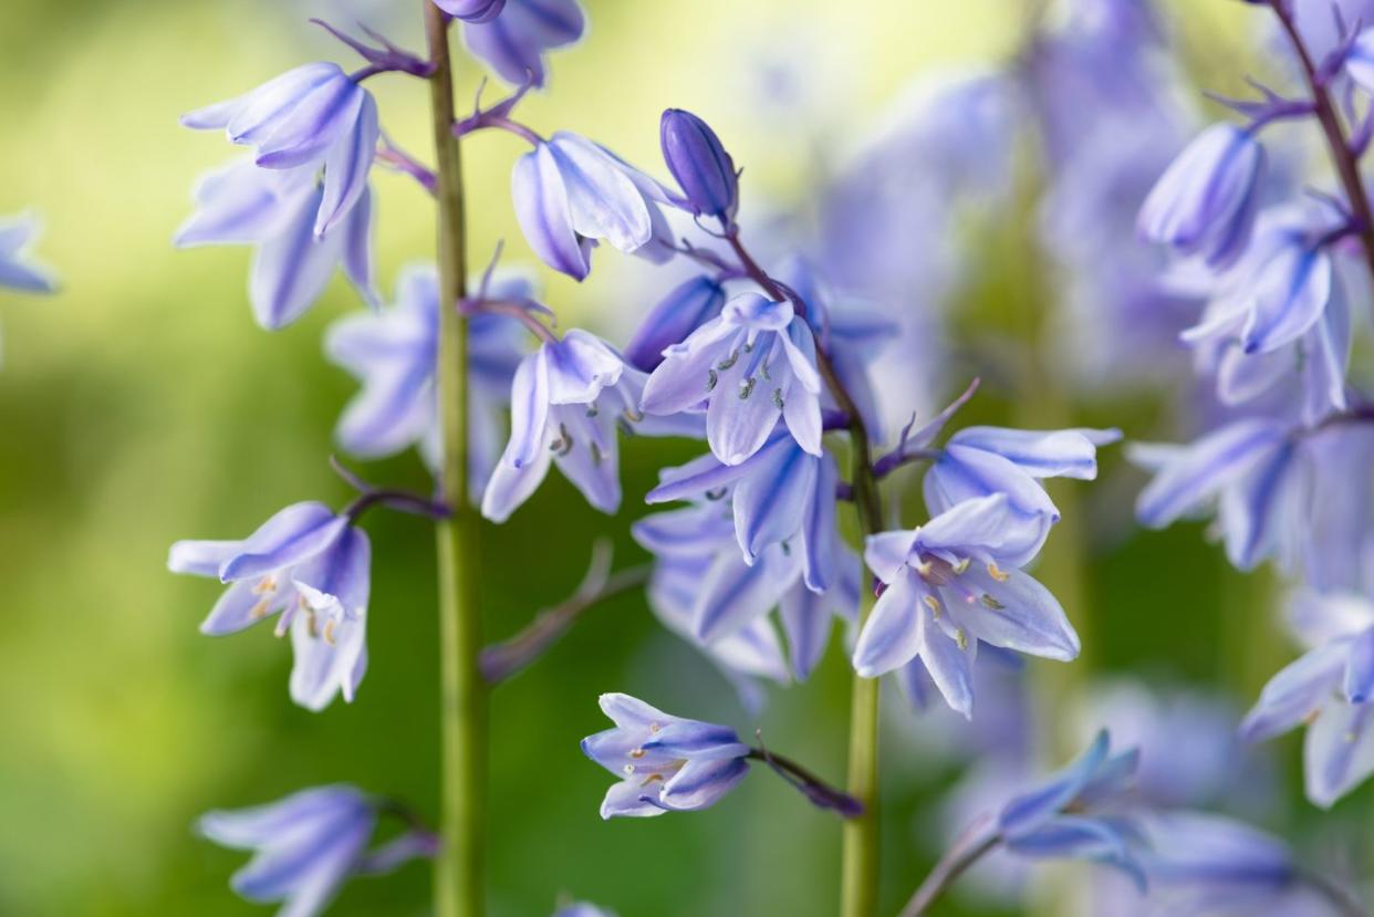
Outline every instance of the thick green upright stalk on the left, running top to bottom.
[(452, 516), (438, 522), (441, 830), (434, 861), (434, 913), (482, 914), (482, 800), (486, 784), (486, 686), (478, 667), (478, 516), (467, 476), (467, 319), (459, 312), (467, 276), (463, 238), (463, 165), (453, 136), (453, 66), (448, 19), (423, 0), (425, 34), (434, 66), (430, 117), (438, 203), (438, 418), (442, 430), (440, 487)]

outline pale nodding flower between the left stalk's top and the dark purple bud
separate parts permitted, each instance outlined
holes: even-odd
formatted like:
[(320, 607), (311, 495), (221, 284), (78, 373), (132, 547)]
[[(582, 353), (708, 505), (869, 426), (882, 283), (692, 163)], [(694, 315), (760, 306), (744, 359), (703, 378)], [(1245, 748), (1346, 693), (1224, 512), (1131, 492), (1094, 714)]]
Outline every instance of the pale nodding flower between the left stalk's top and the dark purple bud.
[(576, 133), (559, 131), (517, 159), (511, 195), (534, 254), (576, 280), (591, 272), (596, 239), (654, 263), (672, 257), (664, 190)]

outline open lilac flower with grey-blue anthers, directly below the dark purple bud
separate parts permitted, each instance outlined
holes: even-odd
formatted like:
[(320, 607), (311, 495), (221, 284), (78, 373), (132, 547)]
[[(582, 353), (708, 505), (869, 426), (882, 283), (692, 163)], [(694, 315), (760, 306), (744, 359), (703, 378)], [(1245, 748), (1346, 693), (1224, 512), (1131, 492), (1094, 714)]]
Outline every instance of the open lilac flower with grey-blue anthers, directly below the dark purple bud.
[(820, 455), (816, 342), (790, 302), (736, 296), (664, 357), (644, 385), (644, 411), (705, 407), (706, 441), (725, 465), (763, 448), (779, 418), (801, 448)]

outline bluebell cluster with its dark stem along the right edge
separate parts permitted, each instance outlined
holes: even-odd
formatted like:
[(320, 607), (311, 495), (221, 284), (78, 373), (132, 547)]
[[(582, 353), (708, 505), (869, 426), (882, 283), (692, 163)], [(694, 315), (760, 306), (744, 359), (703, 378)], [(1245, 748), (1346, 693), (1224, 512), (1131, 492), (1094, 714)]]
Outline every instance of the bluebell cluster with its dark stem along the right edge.
[[(1360, 23), (1374, 8), (1260, 5), (1300, 88), (1256, 84), (1256, 99), (1220, 99), (1238, 118), (1201, 131), (1139, 212), (1140, 235), (1172, 256), (1161, 283), (1202, 304), (1179, 340), (1216, 404), (1191, 443), (1140, 444), (1132, 456), (1154, 476), (1138, 502), (1145, 525), (1210, 517), (1237, 568), (1272, 562), (1289, 579), (1308, 652), (1265, 686), (1242, 731), (1263, 740), (1307, 725), (1307, 795), (1329, 807), (1374, 773), (1374, 414), (1349, 366), (1374, 278), (1360, 176), (1374, 133), (1374, 29)], [(1304, 142), (1318, 155), (1304, 158)]]

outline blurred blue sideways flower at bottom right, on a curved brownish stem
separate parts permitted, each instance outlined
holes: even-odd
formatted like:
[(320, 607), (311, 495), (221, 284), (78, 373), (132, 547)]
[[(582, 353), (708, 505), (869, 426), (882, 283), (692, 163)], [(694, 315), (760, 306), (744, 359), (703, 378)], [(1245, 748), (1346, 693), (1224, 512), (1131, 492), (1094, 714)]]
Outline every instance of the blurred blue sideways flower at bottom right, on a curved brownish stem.
[(1138, 825), (1120, 815), (1139, 753), (1110, 753), (1106, 731), (1047, 784), (1017, 796), (998, 815), (1006, 848), (1035, 859), (1085, 859), (1121, 869), (1143, 891), (1145, 870), (1134, 850)]

